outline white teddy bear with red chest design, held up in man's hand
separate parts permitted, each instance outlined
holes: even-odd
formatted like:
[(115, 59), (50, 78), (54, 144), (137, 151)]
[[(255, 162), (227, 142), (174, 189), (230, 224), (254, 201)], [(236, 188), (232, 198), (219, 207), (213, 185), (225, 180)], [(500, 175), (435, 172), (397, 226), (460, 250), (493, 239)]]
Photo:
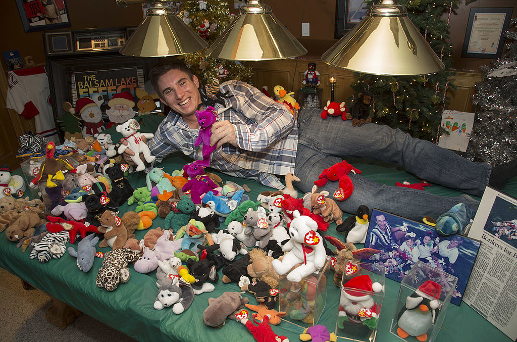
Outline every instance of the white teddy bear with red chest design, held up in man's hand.
[(120, 132), (121, 135), (126, 140), (127, 145), (120, 144), (118, 146), (117, 152), (119, 154), (123, 154), (127, 148), (130, 148), (131, 151), (134, 152), (134, 156), (131, 156), (131, 159), (136, 164), (136, 171), (142, 171), (145, 169), (144, 162), (140, 159), (140, 153), (144, 155), (145, 161), (153, 162), (156, 157), (151, 156), (151, 152), (149, 151), (149, 147), (147, 147), (146, 143), (142, 141), (142, 137), (146, 139), (151, 139), (154, 137), (153, 133), (140, 133), (140, 124), (135, 119), (129, 119), (123, 124), (117, 125), (116, 131)]

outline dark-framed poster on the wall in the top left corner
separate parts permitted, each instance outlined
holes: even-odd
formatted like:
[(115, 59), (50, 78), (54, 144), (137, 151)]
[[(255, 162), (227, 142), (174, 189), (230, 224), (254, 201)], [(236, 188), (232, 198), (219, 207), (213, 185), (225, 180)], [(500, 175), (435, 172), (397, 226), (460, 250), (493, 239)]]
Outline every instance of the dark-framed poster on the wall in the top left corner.
[(25, 32), (70, 27), (65, 0), (15, 0)]

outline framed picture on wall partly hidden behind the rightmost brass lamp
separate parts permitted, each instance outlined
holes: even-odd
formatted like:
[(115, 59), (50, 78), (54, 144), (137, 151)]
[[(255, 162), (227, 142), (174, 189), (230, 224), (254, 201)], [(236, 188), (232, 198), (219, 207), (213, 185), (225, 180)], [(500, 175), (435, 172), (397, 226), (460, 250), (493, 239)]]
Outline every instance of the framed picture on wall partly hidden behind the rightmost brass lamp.
[(366, 17), (368, 5), (364, 0), (337, 0), (335, 38), (343, 37), (362, 18)]

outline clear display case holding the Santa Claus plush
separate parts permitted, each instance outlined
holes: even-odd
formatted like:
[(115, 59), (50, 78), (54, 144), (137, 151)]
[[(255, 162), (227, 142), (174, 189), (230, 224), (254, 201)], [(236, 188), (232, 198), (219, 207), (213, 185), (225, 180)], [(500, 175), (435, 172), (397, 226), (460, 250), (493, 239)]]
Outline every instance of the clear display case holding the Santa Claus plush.
[(373, 342), (384, 299), (384, 265), (357, 260), (343, 267), (336, 335)]

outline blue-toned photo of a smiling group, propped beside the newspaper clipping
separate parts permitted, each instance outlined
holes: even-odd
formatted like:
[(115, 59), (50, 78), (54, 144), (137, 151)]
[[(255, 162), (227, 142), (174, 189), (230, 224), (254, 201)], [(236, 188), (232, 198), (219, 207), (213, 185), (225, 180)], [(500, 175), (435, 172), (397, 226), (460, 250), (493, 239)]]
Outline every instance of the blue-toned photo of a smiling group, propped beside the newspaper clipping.
[[(434, 227), (373, 209), (364, 247), (381, 250), (362, 261), (383, 265), (386, 277), (402, 281), (418, 261), (458, 277), (451, 303), (460, 305), (480, 242), (462, 235), (440, 236)], [(451, 288), (447, 282), (440, 284)]]

